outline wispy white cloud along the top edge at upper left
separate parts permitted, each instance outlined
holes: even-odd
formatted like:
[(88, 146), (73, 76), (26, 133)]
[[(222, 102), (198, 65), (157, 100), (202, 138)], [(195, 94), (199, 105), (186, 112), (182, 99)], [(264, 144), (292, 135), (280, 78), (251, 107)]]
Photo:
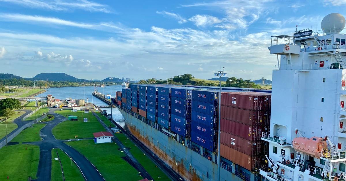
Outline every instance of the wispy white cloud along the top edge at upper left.
[(40, 0), (0, 0), (2, 2), (9, 2), (19, 4), (24, 7), (54, 10), (54, 11), (69, 11), (74, 9), (82, 9), (90, 12), (112, 12), (107, 5), (91, 2), (87, 0), (79, 0), (75, 2), (68, 2), (63, 0), (54, 1), (40, 1)]

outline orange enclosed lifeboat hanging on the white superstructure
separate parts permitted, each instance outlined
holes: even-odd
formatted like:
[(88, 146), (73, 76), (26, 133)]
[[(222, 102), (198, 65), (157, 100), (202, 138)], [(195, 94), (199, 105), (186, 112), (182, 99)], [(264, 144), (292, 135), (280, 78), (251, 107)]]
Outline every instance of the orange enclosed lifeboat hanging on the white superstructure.
[(297, 152), (320, 159), (322, 149), (327, 150), (327, 142), (325, 138), (316, 136), (311, 138), (298, 137), (293, 139), (293, 148)]

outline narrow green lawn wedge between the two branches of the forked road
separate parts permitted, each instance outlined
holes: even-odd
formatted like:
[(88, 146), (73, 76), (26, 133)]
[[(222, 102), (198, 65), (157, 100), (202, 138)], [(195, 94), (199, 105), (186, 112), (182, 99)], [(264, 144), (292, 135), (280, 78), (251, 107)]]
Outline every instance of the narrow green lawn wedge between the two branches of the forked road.
[(52, 149), (52, 172), (51, 172), (51, 181), (62, 181), (62, 173), (61, 166), (58, 160), (54, 160), (57, 158), (56, 151), (59, 154), (59, 158), (63, 167), (65, 180), (73, 180), (73, 181), (84, 181), (83, 175), (79, 170), (78, 166), (71, 160), (68, 155), (65, 154), (62, 150), (56, 148)]

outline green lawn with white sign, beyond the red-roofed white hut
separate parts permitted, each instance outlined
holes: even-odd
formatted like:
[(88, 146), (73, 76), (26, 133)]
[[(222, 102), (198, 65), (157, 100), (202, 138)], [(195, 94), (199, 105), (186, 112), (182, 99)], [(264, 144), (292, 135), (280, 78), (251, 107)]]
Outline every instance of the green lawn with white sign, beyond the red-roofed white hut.
[(64, 121), (52, 130), (56, 139), (72, 139), (78, 135), (78, 138), (93, 138), (95, 132), (104, 131), (104, 127), (99, 123), (92, 113), (89, 113), (89, 122), (84, 123), (83, 117), (88, 118), (88, 114), (84, 114), (84, 111), (72, 112), (71, 109), (65, 109), (62, 111), (54, 111), (57, 114), (67, 117), (67, 115), (78, 116), (78, 121)]

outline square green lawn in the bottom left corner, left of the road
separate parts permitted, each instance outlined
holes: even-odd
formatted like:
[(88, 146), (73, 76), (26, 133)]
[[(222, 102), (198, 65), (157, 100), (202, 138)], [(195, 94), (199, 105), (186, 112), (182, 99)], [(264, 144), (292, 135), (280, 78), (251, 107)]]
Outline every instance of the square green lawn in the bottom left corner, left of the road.
[(29, 177), (36, 179), (39, 153), (39, 147), (36, 145), (18, 144), (2, 147), (0, 180), (28, 180)]

